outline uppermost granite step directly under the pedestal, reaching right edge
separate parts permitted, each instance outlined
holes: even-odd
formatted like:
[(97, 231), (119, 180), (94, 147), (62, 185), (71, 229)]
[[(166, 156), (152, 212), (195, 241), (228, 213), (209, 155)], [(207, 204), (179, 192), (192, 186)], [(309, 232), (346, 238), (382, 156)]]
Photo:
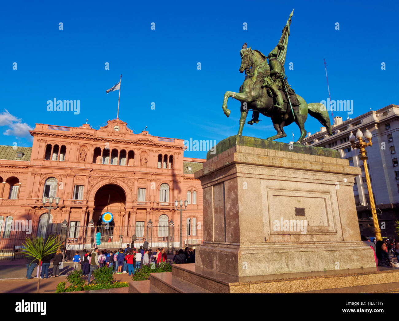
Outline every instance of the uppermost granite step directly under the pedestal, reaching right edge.
[(213, 293), (395, 292), (399, 280), (398, 269), (383, 267), (236, 277), (195, 264), (174, 264), (172, 275)]

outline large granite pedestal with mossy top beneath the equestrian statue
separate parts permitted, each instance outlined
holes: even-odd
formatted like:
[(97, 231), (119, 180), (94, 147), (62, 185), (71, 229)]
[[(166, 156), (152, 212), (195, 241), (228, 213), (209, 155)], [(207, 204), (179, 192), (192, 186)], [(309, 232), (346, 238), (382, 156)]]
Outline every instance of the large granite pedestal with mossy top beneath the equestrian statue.
[(203, 188), (196, 266), (238, 277), (375, 267), (360, 240), (360, 174), (336, 150), (226, 138), (195, 173)]

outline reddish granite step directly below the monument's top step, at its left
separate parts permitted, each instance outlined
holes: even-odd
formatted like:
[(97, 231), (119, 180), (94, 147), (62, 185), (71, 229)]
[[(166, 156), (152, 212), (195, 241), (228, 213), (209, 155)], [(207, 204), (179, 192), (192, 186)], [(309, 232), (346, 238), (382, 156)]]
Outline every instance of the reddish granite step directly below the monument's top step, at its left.
[(212, 293), (172, 275), (172, 272), (151, 273), (150, 284), (164, 293)]

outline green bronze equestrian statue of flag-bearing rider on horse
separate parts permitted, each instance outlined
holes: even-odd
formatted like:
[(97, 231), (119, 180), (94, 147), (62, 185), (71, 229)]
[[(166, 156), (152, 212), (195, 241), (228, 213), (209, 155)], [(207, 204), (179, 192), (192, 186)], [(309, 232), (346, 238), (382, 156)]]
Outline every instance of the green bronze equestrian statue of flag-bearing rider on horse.
[(300, 137), (295, 144), (301, 144), (306, 135), (304, 124), (308, 114), (316, 118), (326, 127), (328, 134), (332, 135), (327, 108), (320, 102), (306, 103), (287, 82), (284, 62), (293, 13), (294, 10), (282, 30), (279, 43), (267, 57), (259, 50), (248, 48), (247, 43), (244, 43), (240, 51), (239, 71), (240, 73), (245, 71), (245, 80), (239, 93), (226, 91), (222, 106), (225, 115), (229, 117), (230, 110), (227, 108), (227, 100), (233, 97), (241, 101), (241, 117), (237, 134), (239, 136), (242, 135), (249, 110), (253, 111), (252, 119), (248, 122), (250, 125), (259, 123), (259, 114), (271, 117), (277, 134), (267, 140), (286, 137), (284, 126), (295, 122), (300, 129)]

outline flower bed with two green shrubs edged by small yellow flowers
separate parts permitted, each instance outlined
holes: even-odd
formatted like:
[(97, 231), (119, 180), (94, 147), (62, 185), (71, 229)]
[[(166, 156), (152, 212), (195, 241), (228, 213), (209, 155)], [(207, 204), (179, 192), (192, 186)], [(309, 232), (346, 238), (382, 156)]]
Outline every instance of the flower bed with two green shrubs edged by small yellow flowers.
[(128, 282), (116, 282), (113, 278), (112, 268), (99, 268), (93, 271), (95, 277), (95, 284), (85, 284), (82, 279), (82, 270), (73, 270), (67, 275), (67, 282), (69, 286), (65, 288), (67, 282), (59, 282), (56, 293), (75, 292), (75, 291), (90, 291), (100, 289), (125, 288), (128, 287)]

